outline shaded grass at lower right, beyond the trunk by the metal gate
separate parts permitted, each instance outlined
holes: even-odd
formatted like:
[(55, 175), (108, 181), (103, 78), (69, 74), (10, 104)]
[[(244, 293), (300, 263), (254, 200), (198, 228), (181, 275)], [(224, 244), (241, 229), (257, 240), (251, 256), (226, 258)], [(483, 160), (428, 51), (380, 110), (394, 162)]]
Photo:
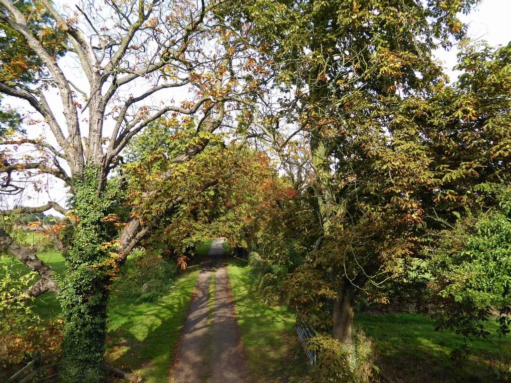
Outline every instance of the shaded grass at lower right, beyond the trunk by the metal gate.
[[(498, 336), (470, 342), (468, 360), (456, 364), (451, 351), (463, 338), (434, 331), (430, 318), (415, 314), (358, 315), (356, 322), (375, 340), (379, 364), (396, 383), (498, 382), (498, 371), (511, 367), (511, 338)], [(487, 323), (495, 332), (495, 322)]]

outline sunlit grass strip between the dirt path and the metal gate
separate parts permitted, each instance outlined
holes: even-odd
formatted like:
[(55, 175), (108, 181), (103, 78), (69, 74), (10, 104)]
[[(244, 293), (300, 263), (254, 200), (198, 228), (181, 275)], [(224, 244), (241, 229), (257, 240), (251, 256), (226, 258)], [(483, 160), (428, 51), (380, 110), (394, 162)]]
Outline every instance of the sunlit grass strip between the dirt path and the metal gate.
[(264, 304), (252, 288), (246, 263), (229, 260), (227, 271), (253, 381), (296, 382), (303, 379), (306, 357), (294, 330), (294, 313)]

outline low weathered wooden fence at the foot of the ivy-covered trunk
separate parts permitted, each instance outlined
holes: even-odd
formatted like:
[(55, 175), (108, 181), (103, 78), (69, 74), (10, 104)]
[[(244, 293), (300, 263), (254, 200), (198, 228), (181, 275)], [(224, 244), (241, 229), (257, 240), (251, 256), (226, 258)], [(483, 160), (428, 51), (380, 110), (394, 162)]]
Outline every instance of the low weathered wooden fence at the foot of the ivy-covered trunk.
[[(48, 363), (54, 359), (54, 363)], [(9, 378), (9, 382), (11, 383), (31, 383), (31, 382), (51, 382), (57, 379), (59, 375), (59, 367), (60, 367), (60, 353), (41, 355), (37, 350), (34, 352), (34, 358), (31, 362), (29, 362), (24, 368), (16, 372)], [(125, 380), (128, 380), (132, 383), (137, 383), (142, 380), (142, 378), (130, 374), (129, 372), (124, 372), (119, 370), (118, 368), (103, 364), (104, 369), (115, 375), (119, 376)], [(49, 371), (44, 376), (44, 373)]]

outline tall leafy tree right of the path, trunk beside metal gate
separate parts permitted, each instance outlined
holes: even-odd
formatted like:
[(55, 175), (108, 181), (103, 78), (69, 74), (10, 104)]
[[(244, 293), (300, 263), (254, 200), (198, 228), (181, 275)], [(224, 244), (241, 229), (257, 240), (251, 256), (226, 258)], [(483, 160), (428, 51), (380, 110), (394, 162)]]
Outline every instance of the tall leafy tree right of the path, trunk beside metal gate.
[[(332, 332), (349, 346), (358, 292), (415, 247), (413, 190), (438, 183), (401, 105), (445, 81), (431, 52), (464, 36), (456, 14), (476, 2), (239, 3), (233, 24), (263, 46), (288, 92), (272, 127), (285, 117), (310, 143), (322, 235), (303, 268), (336, 292)], [(287, 142), (267, 133), (277, 150)]]

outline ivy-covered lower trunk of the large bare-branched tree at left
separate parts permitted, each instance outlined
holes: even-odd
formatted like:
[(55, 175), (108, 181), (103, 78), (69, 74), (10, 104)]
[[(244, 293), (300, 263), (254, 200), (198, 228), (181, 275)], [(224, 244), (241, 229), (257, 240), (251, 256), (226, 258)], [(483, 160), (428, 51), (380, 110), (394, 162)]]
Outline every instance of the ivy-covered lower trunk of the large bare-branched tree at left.
[(103, 378), (108, 282), (114, 269), (102, 221), (109, 201), (100, 190), (99, 166), (87, 165), (84, 173), (85, 180), (75, 186), (76, 226), (60, 289), (65, 321), (60, 381), (65, 383), (96, 383)]

